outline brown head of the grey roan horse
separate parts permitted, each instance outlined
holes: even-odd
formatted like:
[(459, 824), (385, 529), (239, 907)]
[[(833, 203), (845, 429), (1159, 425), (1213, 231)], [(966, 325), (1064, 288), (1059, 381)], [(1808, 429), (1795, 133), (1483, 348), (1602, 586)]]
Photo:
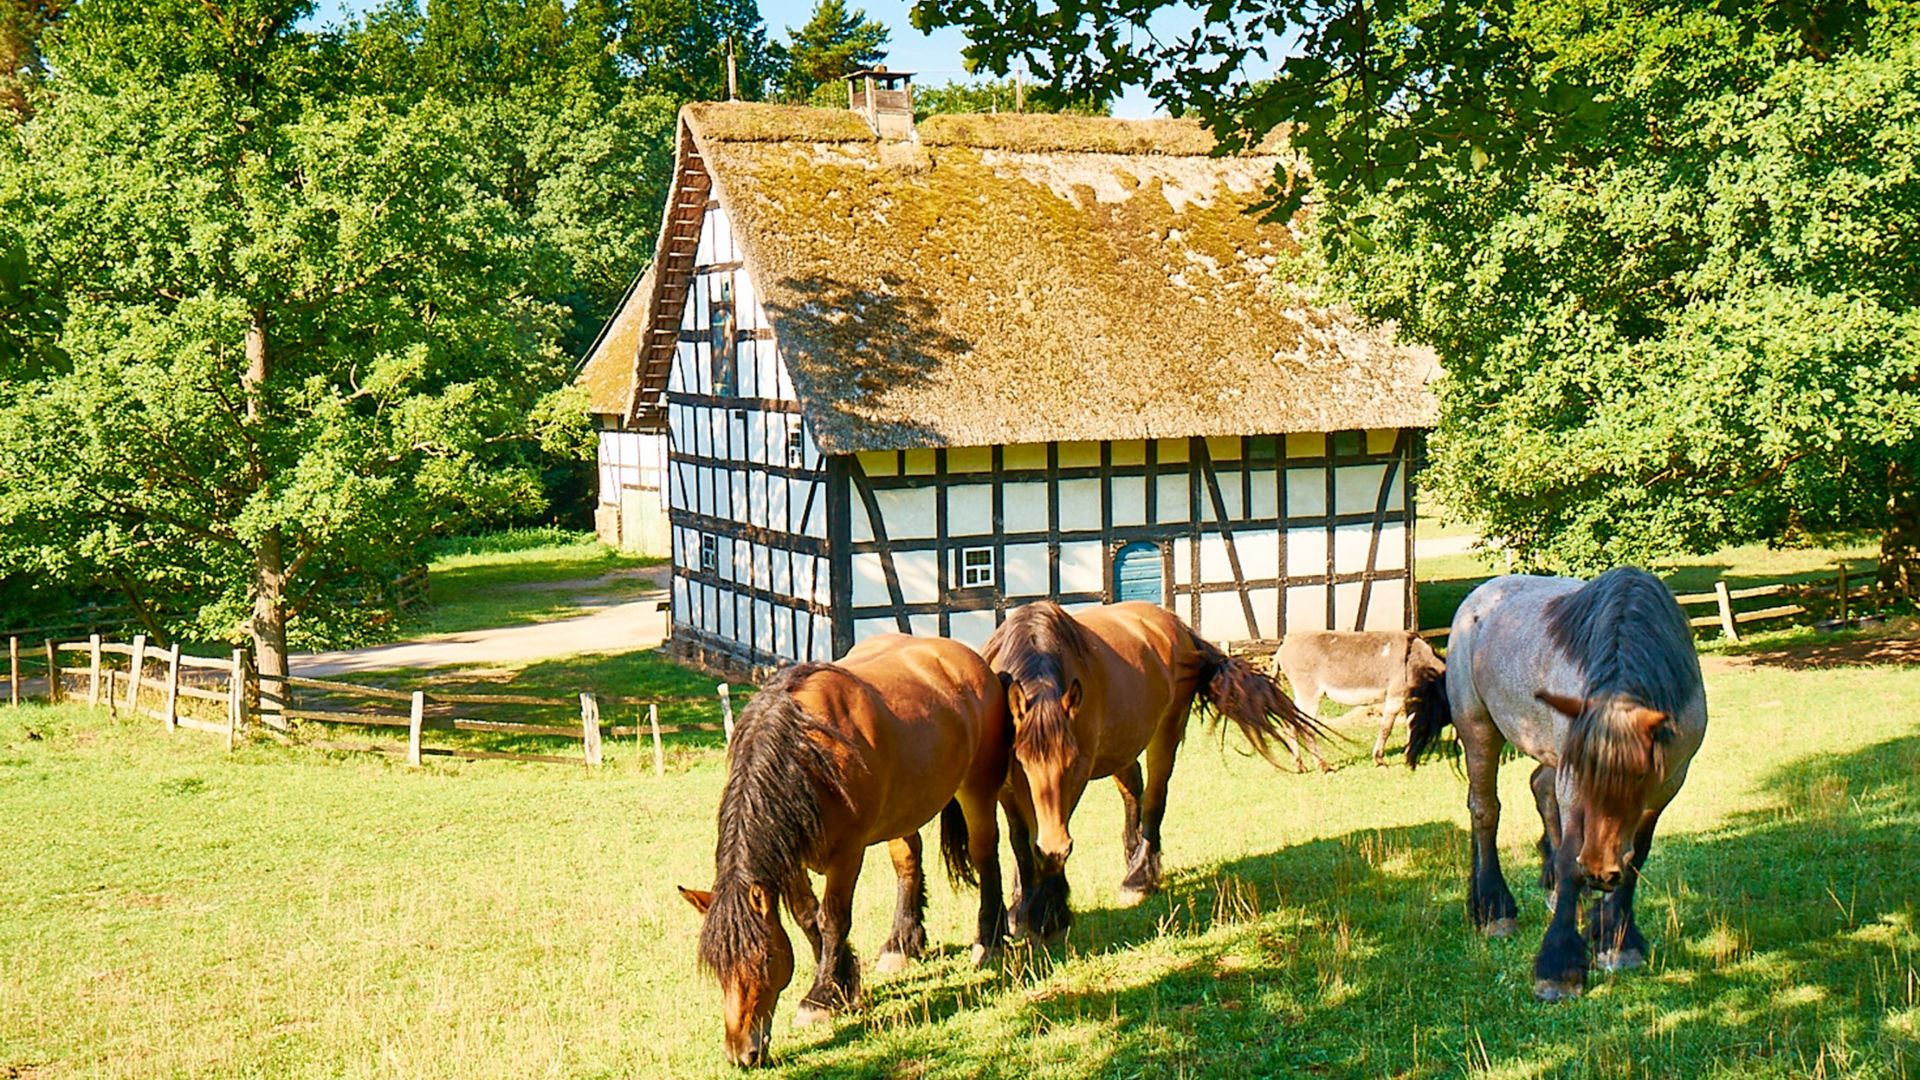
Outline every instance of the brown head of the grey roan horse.
[[(1611, 892), (1634, 859), (1634, 834), (1649, 801), (1667, 780), (1672, 717), (1624, 694), (1536, 698), (1572, 721), (1561, 749), (1561, 769), (1572, 778), (1571, 821), (1580, 822), (1580, 871), (1586, 882)], [(1644, 853), (1642, 853), (1644, 855)]]

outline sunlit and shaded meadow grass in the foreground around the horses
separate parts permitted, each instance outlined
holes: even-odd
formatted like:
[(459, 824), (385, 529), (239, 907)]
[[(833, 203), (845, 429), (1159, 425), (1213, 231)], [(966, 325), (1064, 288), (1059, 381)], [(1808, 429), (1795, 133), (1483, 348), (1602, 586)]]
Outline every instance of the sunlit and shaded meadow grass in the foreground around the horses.
[[(1169, 888), (1116, 909), (1117, 799), (1075, 819), (1079, 924), (868, 978), (780, 1068), (845, 1076), (1908, 1076), (1920, 1072), (1920, 669), (1713, 661), (1713, 728), (1642, 886), (1647, 970), (1530, 997), (1546, 909), (1461, 911), (1463, 782), (1273, 773), (1194, 738)], [(701, 1076), (718, 992), (674, 884), (710, 878), (718, 751), (668, 776), (407, 771), (79, 709), (0, 711), (0, 1076)], [(1528, 767), (1501, 846), (1532, 892)], [(876, 849), (854, 945), (885, 936)], [(797, 980), (808, 976), (806, 965)]]

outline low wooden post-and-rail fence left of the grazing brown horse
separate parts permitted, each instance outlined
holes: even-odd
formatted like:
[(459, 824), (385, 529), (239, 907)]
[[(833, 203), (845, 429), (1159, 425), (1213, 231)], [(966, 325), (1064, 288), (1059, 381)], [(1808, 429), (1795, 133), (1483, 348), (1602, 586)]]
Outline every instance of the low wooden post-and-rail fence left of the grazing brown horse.
[[(79, 653), (79, 663), (63, 657)], [(232, 657), (196, 657), (180, 651), (180, 646), (167, 650), (150, 648), (146, 636), (136, 636), (131, 644), (104, 642), (100, 634), (84, 642), (42, 642), (38, 650), (23, 651), (21, 640), (8, 638), (8, 703), (19, 705), (27, 698), (29, 678), (44, 676), (44, 698), (48, 701), (79, 700), (83, 694), (90, 707), (108, 707), (115, 715), (144, 715), (167, 724), (167, 730), (188, 728), (227, 736), (228, 749), (238, 744), (253, 723), (284, 730), (288, 723), (300, 724), (349, 724), (371, 728), (405, 728), (405, 744), (344, 744), (307, 742), (323, 749), (355, 749), (403, 755), (409, 765), (419, 765), (426, 757), (463, 759), (509, 759), (509, 761), (551, 761), (586, 763), (597, 767), (603, 761), (605, 740), (632, 736), (636, 749), (645, 749), (653, 742), (653, 771), (666, 771), (666, 751), (660, 736), (680, 732), (722, 732), (733, 740), (733, 690), (726, 682), (716, 686), (716, 698), (620, 698), (584, 692), (578, 701), (566, 698), (543, 698), (536, 694), (444, 694), (438, 690), (392, 690), (386, 686), (363, 686), (359, 682), (340, 682), (326, 678), (290, 676), (286, 680), (288, 703), (284, 707), (267, 705), (261, 709), (257, 694), (250, 694), (255, 675), (248, 663), (246, 650), (234, 650)], [(207, 705), (217, 703), (213, 713)], [(697, 701), (716, 701), (718, 723), (660, 723), (662, 705), (687, 705)], [(476, 709), (511, 707), (520, 711), (578, 715), (578, 723), (541, 723), (526, 719), (488, 719), (472, 715)], [(634, 709), (636, 723), (607, 724), (601, 709)], [(576, 711), (578, 709), (578, 711)], [(645, 721), (639, 721), (641, 709)], [(215, 721), (213, 715), (219, 719)], [(426, 746), (428, 732), (476, 732), (493, 736), (534, 736), (580, 740), (578, 755), (532, 753), (520, 749), (480, 749), (472, 746)]]

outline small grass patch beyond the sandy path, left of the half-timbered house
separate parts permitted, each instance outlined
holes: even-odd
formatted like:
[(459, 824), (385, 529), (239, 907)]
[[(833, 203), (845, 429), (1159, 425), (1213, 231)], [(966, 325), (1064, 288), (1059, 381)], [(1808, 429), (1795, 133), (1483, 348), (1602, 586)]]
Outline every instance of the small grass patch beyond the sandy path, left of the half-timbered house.
[(643, 559), (601, 544), (591, 532), (515, 528), (440, 542), (426, 567), (432, 607), (409, 634), (451, 634), (580, 615), (588, 605), (655, 592)]

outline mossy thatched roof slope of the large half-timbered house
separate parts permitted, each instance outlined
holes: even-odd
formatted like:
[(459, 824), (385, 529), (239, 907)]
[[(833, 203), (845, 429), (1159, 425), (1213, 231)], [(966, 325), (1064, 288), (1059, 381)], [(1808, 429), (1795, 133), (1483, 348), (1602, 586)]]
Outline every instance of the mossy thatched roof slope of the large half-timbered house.
[(1164, 119), (682, 119), (829, 452), (1434, 421), (1428, 352), (1279, 298), (1292, 234), (1246, 213), (1273, 148), (1212, 158)]

